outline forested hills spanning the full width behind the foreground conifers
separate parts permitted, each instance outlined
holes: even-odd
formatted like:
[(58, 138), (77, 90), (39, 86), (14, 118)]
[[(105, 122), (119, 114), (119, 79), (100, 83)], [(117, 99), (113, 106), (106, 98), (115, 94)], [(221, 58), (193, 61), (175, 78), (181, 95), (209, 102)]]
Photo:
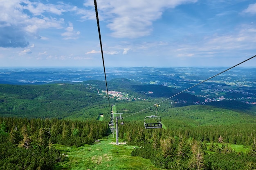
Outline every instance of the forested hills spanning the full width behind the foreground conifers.
[[(117, 112), (124, 113), (125, 120), (143, 123), (145, 116), (155, 114), (155, 109), (145, 108), (165, 100), (177, 89), (162, 85), (144, 85), (127, 79), (113, 79), (108, 82), (109, 91), (120, 91), (122, 97), (111, 96), (110, 104), (117, 105)], [(82, 83), (58, 83), (47, 85), (0, 85), (0, 116), (23, 118), (70, 118), (73, 120), (109, 121), (110, 108), (104, 81), (90, 80)], [(148, 93), (151, 92), (151, 93)], [(176, 103), (174, 101), (183, 101)], [(194, 105), (201, 100), (197, 96), (182, 93), (160, 104), (158, 115), (167, 127), (180, 125), (216, 125), (254, 123), (256, 107), (236, 100), (209, 102), (208, 106)], [(172, 102), (172, 103), (171, 103)], [(185, 106), (185, 107), (184, 107)]]

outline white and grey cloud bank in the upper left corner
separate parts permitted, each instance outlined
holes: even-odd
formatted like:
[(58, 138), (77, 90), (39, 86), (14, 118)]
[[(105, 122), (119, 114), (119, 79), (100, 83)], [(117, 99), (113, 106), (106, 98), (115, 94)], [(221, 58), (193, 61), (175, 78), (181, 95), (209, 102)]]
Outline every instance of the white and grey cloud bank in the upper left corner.
[[(32, 2), (30, 0), (1, 0), (0, 3), (0, 47), (27, 47), (29, 37), (40, 37), (38, 32), (48, 28), (63, 28), (65, 12), (75, 12), (74, 6), (57, 2)], [(58, 18), (54, 17), (59, 15)], [(79, 31), (72, 32), (72, 26), (66, 28), (64, 39), (76, 39)]]

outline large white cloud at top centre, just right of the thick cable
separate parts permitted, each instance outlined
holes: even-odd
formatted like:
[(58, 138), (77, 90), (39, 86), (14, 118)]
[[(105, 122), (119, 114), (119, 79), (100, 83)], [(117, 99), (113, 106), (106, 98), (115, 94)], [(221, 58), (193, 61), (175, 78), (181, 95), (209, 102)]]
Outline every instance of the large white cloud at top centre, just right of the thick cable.
[[(103, 18), (112, 31), (112, 37), (137, 38), (150, 35), (153, 21), (159, 19), (167, 8), (197, 0), (98, 0), (99, 18)], [(85, 7), (94, 7), (87, 0)]]

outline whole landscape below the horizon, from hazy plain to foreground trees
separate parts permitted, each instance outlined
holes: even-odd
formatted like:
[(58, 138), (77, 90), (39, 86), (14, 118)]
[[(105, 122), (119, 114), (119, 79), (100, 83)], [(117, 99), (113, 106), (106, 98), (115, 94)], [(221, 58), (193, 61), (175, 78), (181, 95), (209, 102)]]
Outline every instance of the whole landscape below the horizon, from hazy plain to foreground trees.
[[(96, 70), (1, 71), (0, 145), (9, 152), (0, 168), (256, 168), (255, 69), (238, 68), (173, 98), (220, 69), (112, 68), (109, 98)], [(155, 103), (164, 128), (145, 129)], [(123, 113), (125, 145), (110, 144), (109, 104)], [(35, 153), (44, 161), (27, 159)]]

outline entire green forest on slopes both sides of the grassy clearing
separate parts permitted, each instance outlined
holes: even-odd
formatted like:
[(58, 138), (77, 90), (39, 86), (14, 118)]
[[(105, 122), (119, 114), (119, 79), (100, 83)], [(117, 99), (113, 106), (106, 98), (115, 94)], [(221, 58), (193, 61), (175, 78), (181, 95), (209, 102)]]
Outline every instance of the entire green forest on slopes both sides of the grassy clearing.
[[(68, 161), (57, 145), (81, 147), (108, 136), (111, 110), (106, 96), (99, 95), (100, 86), (92, 82), (0, 85), (0, 169), (56, 169)], [(144, 117), (154, 115), (154, 107), (130, 115), (164, 100), (165, 90), (171, 92), (162, 88), (165, 96), (140, 93), (149, 89), (159, 90), (126, 83), (123, 91), (146, 100), (110, 98), (117, 113), (123, 113), (119, 139), (135, 146), (132, 157), (149, 159), (163, 169), (256, 169), (255, 107), (238, 101), (190, 105), (197, 97), (188, 98), (187, 104), (168, 100), (157, 112), (164, 128), (145, 129)]]

